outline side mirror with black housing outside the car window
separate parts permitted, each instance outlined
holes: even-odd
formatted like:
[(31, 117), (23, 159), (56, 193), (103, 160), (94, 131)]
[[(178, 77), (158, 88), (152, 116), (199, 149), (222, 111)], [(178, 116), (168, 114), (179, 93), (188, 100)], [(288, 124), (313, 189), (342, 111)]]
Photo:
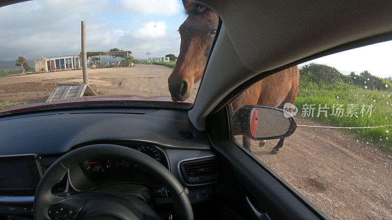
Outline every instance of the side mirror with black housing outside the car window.
[(280, 139), (292, 135), (296, 129), (293, 116), (269, 106), (242, 106), (233, 114), (234, 135), (253, 140)]

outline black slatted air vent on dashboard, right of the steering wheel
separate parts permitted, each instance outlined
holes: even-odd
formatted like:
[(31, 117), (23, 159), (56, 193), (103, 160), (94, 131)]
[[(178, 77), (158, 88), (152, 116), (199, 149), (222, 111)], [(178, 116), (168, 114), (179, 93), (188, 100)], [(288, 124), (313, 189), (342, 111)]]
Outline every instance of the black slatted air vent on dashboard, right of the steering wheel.
[(187, 183), (208, 183), (218, 179), (218, 165), (215, 157), (188, 160), (180, 163), (180, 171)]

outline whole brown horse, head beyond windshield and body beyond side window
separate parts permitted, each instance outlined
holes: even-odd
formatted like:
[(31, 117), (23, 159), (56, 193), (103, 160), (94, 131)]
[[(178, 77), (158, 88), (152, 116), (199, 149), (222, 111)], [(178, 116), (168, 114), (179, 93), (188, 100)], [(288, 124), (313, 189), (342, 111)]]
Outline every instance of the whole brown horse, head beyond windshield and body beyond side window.
[[(201, 79), (219, 23), (218, 15), (207, 6), (193, 0), (183, 0), (182, 3), (188, 18), (178, 29), (181, 35), (180, 54), (168, 79), (173, 101), (185, 101), (193, 85)], [(235, 111), (243, 105), (283, 108), (287, 102), (294, 104), (298, 83), (297, 66), (277, 72), (245, 90), (232, 102), (232, 109)], [(281, 139), (274, 148), (275, 153), (283, 141)], [(260, 146), (264, 144), (265, 141), (260, 141)], [(249, 139), (245, 136), (243, 146), (250, 150)]]

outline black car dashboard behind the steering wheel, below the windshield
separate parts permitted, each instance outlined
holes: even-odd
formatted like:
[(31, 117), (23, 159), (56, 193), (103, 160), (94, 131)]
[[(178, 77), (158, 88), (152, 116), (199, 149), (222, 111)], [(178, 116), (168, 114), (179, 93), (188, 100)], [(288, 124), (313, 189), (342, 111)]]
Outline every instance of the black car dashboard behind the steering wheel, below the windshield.
[[(149, 155), (190, 191), (191, 203), (208, 201), (218, 177), (215, 154), (205, 132), (195, 129), (186, 110), (89, 109), (52, 110), (0, 117), (0, 219), (31, 216), (35, 188), (60, 156), (91, 144), (115, 144)], [(184, 138), (182, 132), (192, 134)], [(9, 147), (12, 146), (12, 147)], [(22, 157), (20, 157), (22, 156)], [(19, 160), (18, 160), (19, 159)], [(13, 161), (14, 160), (14, 161)], [(15, 163), (11, 163), (15, 162)], [(17, 165), (17, 166), (16, 166)], [(192, 172), (192, 175), (189, 175)], [(14, 175), (15, 173), (23, 174)], [(6, 174), (6, 175), (5, 175)], [(132, 161), (107, 157), (85, 160), (70, 168), (52, 193), (79, 193), (99, 187), (143, 185), (151, 192), (164, 187)], [(170, 198), (156, 198), (167, 205)]]

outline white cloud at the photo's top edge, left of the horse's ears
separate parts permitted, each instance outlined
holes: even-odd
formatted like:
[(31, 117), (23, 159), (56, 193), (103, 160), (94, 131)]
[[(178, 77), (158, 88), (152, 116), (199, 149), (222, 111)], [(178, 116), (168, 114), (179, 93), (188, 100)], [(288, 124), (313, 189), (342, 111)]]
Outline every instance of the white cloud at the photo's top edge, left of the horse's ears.
[(181, 8), (177, 0), (122, 0), (122, 4), (131, 13), (147, 15), (174, 15)]

